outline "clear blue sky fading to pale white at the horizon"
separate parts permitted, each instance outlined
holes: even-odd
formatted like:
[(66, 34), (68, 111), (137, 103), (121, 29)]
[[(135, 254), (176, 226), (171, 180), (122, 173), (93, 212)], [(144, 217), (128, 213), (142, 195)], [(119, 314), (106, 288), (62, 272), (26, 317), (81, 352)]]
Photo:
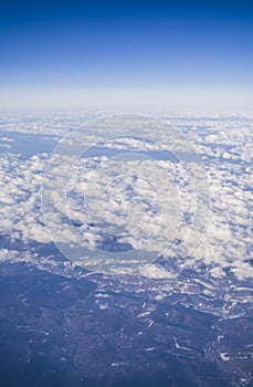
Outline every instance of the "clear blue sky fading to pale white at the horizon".
[(253, 106), (253, 1), (2, 1), (3, 107)]

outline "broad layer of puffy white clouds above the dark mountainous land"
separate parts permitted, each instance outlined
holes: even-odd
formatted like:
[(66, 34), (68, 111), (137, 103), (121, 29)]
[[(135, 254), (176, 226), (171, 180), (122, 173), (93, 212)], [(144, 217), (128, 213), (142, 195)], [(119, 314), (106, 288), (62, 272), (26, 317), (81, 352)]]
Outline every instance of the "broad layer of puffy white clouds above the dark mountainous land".
[[(49, 135), (53, 125), (59, 137), (73, 130), (71, 116), (57, 117), (54, 123), (51, 117), (44, 117), (42, 124), (36, 119), (33, 124), (9, 119), (4, 130), (12, 136), (13, 130)], [(177, 260), (179, 272), (189, 268), (198, 270), (202, 262), (210, 266), (209, 275), (213, 279), (223, 279), (228, 270), (240, 281), (251, 278), (252, 123), (178, 117), (170, 124), (186, 128), (185, 134), (203, 158), (211, 198), (207, 230), (208, 198), (202, 180), (198, 179), (198, 164), (187, 157), (175, 163), (151, 157), (94, 156), (93, 153), (75, 160), (67, 153), (56, 153), (51, 178), (45, 181), (49, 154), (25, 156), (4, 148), (0, 163), (1, 234), (23, 243), (49, 243), (53, 237), (59, 243), (85, 248), (86, 255), (101, 247), (108, 234), (119, 236), (118, 249), (129, 244), (134, 251), (152, 253), (152, 258), (162, 254), (170, 261), (191, 252), (188, 259)], [(81, 125), (82, 118), (76, 118), (76, 126)], [(120, 127), (115, 134), (120, 134)], [(78, 149), (99, 144), (124, 151), (160, 151), (160, 145), (171, 139), (171, 134), (167, 135), (159, 126), (156, 133), (149, 128), (146, 134), (151, 142), (134, 136), (113, 140), (105, 139), (105, 127), (101, 127), (97, 135), (91, 127)], [(10, 138), (2, 135), (2, 144), (12, 144)], [(173, 140), (169, 149), (177, 155), (186, 148), (189, 153), (183, 142), (183, 138)], [(73, 145), (73, 138), (70, 137), (67, 144)], [(44, 209), (41, 207), (43, 184), (49, 194)], [(51, 234), (43, 210), (46, 210)], [(84, 265), (85, 262), (83, 260)], [(82, 260), (78, 263), (82, 264)], [(143, 268), (141, 273), (154, 279), (171, 275), (168, 266), (166, 274), (154, 264)]]

